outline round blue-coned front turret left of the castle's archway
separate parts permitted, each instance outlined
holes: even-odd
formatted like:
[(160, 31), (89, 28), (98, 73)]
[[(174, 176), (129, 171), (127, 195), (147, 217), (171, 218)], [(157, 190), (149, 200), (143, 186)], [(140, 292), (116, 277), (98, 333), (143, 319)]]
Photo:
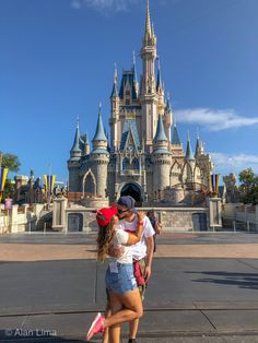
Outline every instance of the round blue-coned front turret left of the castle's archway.
[(98, 107), (96, 131), (92, 140), (91, 169), (95, 176), (96, 194), (106, 198), (107, 190), (107, 165), (109, 153), (107, 151), (107, 138), (102, 121), (102, 106)]

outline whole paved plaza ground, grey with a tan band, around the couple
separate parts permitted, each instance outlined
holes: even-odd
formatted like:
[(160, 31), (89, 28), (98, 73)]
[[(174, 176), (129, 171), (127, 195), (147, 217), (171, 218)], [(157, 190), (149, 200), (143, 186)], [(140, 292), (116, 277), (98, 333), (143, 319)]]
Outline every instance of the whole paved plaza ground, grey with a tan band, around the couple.
[[(258, 235), (157, 240), (138, 342), (258, 342)], [(1, 236), (0, 341), (83, 342), (105, 308), (105, 269), (95, 235)]]

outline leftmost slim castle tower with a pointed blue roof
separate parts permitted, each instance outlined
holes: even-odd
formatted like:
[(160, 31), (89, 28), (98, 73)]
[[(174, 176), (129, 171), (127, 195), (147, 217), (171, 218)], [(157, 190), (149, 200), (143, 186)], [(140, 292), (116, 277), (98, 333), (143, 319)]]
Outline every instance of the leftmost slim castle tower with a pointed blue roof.
[(70, 150), (70, 158), (68, 159), (68, 169), (69, 169), (69, 189), (73, 192), (81, 191), (80, 185), (80, 159), (82, 157), (82, 150), (80, 147), (80, 130), (79, 121), (77, 122), (77, 130), (74, 135), (74, 141), (72, 149)]

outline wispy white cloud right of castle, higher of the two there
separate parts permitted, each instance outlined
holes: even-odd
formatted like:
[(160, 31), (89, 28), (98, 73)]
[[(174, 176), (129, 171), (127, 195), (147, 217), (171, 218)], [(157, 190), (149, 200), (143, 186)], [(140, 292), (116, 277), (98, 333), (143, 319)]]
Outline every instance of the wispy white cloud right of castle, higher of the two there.
[(234, 109), (190, 108), (175, 110), (176, 120), (186, 123), (198, 123), (210, 131), (248, 127), (258, 123), (258, 117), (239, 116)]

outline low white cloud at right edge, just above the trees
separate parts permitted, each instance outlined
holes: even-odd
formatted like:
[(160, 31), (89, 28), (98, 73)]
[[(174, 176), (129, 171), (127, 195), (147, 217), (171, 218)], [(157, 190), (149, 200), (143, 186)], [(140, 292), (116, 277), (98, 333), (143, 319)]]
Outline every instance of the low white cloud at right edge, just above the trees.
[(234, 173), (238, 175), (243, 169), (253, 168), (253, 170), (258, 174), (258, 155), (230, 155), (219, 152), (210, 154), (212, 161), (214, 162), (215, 173)]

